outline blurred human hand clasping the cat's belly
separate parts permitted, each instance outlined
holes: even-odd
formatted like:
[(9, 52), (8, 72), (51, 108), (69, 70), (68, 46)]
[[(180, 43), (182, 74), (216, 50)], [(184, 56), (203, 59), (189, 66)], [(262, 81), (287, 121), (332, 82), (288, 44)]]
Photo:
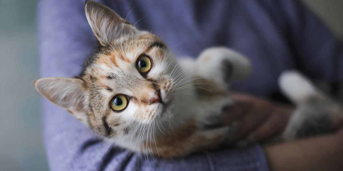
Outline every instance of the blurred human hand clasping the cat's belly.
[(222, 124), (240, 121), (236, 138), (248, 137), (259, 142), (282, 131), (293, 113), (290, 106), (273, 104), (251, 95), (233, 94), (234, 105), (226, 106), (222, 112)]

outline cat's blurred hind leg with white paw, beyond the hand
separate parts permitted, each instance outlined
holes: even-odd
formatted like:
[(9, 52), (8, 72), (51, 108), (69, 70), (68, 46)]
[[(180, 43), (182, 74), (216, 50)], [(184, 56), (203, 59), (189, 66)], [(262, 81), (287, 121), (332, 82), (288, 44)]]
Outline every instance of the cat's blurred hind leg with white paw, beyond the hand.
[(332, 132), (343, 121), (343, 109), (296, 71), (285, 71), (279, 79), (281, 90), (297, 105), (282, 138), (296, 138)]

